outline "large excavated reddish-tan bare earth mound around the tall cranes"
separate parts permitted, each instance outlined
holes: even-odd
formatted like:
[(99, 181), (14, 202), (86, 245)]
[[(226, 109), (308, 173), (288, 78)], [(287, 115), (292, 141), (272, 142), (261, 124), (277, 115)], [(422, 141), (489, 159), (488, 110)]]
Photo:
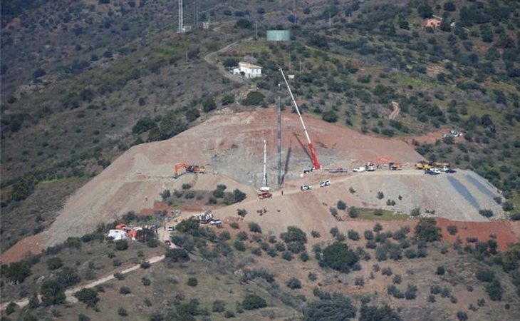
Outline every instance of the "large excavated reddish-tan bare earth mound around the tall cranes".
[[(264, 139), (269, 155), (268, 181), (276, 181), (274, 108), (244, 113), (223, 110), (199, 126), (167, 141), (130, 148), (74, 193), (48, 230), (14, 245), (2, 254), (2, 262), (20, 260), (28, 250), (38, 253), (42, 248), (61, 243), (68, 237), (84, 235), (98, 224), (120, 218), (129, 210), (139, 212), (142, 208), (152, 208), (154, 201), (160, 199), (162, 190), (181, 189), (183, 183), (192, 184), (196, 190), (214, 190), (217, 184), (227, 185), (228, 190), (239, 188), (248, 195), (244, 204), (216, 212), (225, 217), (235, 215), (236, 208), (246, 207), (249, 213), (255, 213), (266, 207), (269, 212), (266, 217), (276, 218), (264, 222), (266, 230), (269, 226), (277, 230), (276, 233), (287, 225), (301, 223), (308, 226), (309, 230), (328, 232), (336, 224), (328, 208), (336, 205), (338, 200), (344, 200), (349, 206), (387, 208), (386, 200), (390, 198), (396, 202), (392, 208), (405, 213), (411, 208), (421, 207), (430, 208), (435, 210), (436, 215), (451, 219), (485, 220), (474, 215), (474, 200), (469, 202), (458, 191), (454, 192), (453, 184), (445, 175), (432, 177), (411, 170), (413, 164), (423, 158), (407, 143), (400, 139), (363, 136), (348, 128), (312, 118), (306, 118), (306, 125), (324, 168), (353, 168), (367, 161), (388, 158), (403, 163), (405, 170), (380, 170), (358, 175), (349, 173), (343, 175), (343, 178), (333, 178), (336, 183), (329, 188), (319, 190), (316, 187), (309, 193), (300, 193), (301, 183), (316, 184), (332, 176), (322, 171), (301, 178), (303, 168), (311, 166), (303, 147), (305, 138), (301, 124), (296, 114), (288, 111), (284, 112), (282, 121), (282, 188), (287, 192), (293, 190), (292, 194), (286, 193), (281, 198), (264, 200), (262, 203), (256, 200), (256, 190), (261, 185)], [(205, 165), (208, 173), (186, 174), (173, 179), (172, 168), (175, 163)], [(466, 173), (457, 173), (453, 178), (460, 182), (459, 185), (466, 186), (469, 193), (477, 193), (474, 197), (477, 207), (492, 208), (494, 203), (489, 201), (489, 193), (482, 193), (482, 186), (476, 188), (467, 183)], [(480, 185), (486, 183), (484, 181)], [(349, 193), (350, 186), (357, 192)], [(375, 198), (379, 190), (385, 193), (383, 200)], [(496, 192), (492, 193), (494, 195)], [(402, 195), (402, 201), (398, 200), (399, 195)], [(497, 210), (496, 207), (492, 209)], [(495, 213), (499, 213), (498, 210)]]

